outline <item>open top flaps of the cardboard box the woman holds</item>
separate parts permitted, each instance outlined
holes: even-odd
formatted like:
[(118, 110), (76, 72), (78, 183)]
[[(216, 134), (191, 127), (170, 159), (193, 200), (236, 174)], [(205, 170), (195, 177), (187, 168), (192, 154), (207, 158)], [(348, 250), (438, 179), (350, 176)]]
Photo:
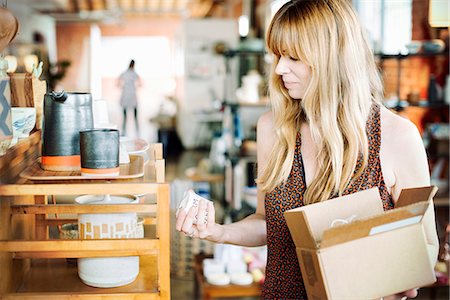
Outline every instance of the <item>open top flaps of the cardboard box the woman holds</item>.
[[(378, 188), (372, 188), (298, 207), (284, 216), (297, 248), (319, 249), (421, 222), (436, 191), (435, 186), (404, 189), (396, 209), (385, 212)], [(349, 217), (356, 220), (331, 228), (334, 220)]]

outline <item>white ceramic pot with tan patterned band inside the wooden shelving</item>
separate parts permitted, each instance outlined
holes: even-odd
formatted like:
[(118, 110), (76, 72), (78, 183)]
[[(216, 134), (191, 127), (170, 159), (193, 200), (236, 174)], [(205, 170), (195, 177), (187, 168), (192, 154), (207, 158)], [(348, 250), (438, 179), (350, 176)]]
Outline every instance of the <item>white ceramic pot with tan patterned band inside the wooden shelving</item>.
[[(75, 198), (78, 204), (138, 203), (135, 196), (85, 195)], [(108, 199), (109, 198), (109, 199)], [(106, 200), (105, 200), (106, 199)], [(136, 213), (80, 214), (80, 239), (118, 239), (137, 237)], [(139, 274), (139, 256), (78, 259), (78, 276), (90, 286), (118, 287), (133, 282)]]

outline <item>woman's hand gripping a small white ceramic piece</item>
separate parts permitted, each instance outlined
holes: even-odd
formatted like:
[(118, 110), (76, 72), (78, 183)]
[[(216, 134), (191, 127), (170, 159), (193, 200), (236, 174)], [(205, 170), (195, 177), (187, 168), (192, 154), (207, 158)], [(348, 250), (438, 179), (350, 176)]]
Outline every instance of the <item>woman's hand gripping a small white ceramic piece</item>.
[(212, 201), (200, 199), (186, 213), (184, 208), (176, 212), (176, 229), (189, 237), (221, 242), (223, 227), (215, 222), (215, 209)]

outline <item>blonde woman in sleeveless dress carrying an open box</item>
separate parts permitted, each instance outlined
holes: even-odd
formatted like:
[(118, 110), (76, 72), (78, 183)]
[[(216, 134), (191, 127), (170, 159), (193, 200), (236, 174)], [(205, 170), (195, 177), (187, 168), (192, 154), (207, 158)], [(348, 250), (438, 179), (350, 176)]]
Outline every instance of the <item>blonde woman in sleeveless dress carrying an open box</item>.
[[(380, 76), (350, 0), (287, 2), (266, 43), (271, 111), (257, 124), (256, 212), (220, 225), (213, 204), (200, 201), (177, 212), (176, 229), (217, 243), (267, 244), (262, 296), (306, 299), (284, 211), (373, 187), (389, 210), (402, 189), (430, 185), (429, 169), (417, 128), (382, 105)], [(434, 220), (426, 226), (437, 257)], [(384, 299), (416, 296), (413, 289)]]

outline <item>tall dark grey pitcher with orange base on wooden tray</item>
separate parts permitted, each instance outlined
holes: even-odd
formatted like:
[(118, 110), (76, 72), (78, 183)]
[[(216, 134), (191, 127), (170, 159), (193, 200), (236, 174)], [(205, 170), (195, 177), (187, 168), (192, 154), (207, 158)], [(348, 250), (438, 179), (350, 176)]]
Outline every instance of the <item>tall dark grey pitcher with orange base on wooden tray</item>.
[(79, 170), (79, 132), (93, 127), (91, 94), (64, 91), (46, 94), (42, 168), (52, 171)]

